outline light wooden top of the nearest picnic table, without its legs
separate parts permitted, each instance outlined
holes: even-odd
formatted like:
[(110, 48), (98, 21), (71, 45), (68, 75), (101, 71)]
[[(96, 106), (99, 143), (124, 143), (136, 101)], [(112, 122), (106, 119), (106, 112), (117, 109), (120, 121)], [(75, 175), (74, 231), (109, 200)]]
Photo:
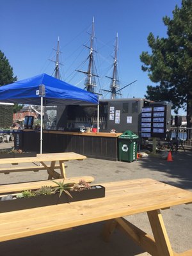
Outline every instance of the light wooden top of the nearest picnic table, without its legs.
[[(0, 241), (192, 202), (192, 193), (152, 179), (101, 184), (106, 196), (0, 214)], [(10, 185), (11, 186), (11, 185)]]

